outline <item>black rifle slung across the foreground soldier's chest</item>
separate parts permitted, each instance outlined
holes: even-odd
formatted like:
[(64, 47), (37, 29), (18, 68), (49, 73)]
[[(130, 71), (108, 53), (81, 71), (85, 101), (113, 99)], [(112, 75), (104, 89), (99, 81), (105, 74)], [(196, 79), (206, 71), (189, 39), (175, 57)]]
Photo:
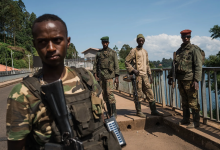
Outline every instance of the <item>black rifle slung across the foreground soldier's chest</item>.
[(45, 150), (83, 150), (82, 143), (74, 136), (69, 119), (72, 117), (67, 110), (62, 80), (42, 85), (42, 92), (45, 93), (45, 101), (52, 111), (55, 122), (61, 133), (62, 143), (46, 143)]

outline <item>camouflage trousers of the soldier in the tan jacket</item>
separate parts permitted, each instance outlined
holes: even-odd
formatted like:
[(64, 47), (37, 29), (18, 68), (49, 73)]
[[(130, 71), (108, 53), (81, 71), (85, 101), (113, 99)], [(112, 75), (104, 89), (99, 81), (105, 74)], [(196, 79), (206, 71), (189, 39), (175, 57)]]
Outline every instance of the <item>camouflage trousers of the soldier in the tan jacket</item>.
[(145, 94), (149, 102), (155, 101), (154, 93), (153, 90), (151, 89), (148, 75), (137, 76), (136, 82), (137, 82), (138, 100), (142, 101), (144, 99), (143, 94)]

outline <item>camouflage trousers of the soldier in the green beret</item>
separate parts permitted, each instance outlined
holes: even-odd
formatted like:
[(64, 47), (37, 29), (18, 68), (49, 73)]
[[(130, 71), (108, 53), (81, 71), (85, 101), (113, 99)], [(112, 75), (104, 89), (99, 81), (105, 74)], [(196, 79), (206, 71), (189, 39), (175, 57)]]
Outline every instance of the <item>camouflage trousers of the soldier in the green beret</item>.
[(104, 101), (107, 103), (109, 102), (110, 104), (116, 103), (115, 96), (114, 96), (114, 83), (113, 79), (101, 79), (100, 85), (102, 87), (102, 96)]

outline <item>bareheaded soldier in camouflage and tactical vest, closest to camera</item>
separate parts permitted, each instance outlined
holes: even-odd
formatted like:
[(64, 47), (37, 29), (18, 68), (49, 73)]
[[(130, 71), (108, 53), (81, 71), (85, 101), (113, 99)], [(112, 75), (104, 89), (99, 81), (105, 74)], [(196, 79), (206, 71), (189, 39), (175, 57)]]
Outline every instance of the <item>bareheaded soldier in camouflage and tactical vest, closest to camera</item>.
[(8, 97), (8, 150), (50, 150), (53, 148), (45, 148), (48, 143), (61, 145), (66, 140), (60, 133), (62, 124), (57, 124), (56, 117), (52, 115), (59, 115), (59, 112), (52, 111), (45, 101), (47, 93), (41, 91), (43, 86), (58, 79), (63, 82), (65, 109), (69, 112), (68, 122), (74, 138), (81, 141), (84, 149), (120, 150), (114, 133), (104, 127), (102, 112), (92, 111), (92, 98), (97, 100), (101, 93), (93, 75), (83, 68), (64, 66), (70, 37), (63, 20), (51, 14), (42, 15), (34, 21), (32, 34), (43, 68), (17, 84)]

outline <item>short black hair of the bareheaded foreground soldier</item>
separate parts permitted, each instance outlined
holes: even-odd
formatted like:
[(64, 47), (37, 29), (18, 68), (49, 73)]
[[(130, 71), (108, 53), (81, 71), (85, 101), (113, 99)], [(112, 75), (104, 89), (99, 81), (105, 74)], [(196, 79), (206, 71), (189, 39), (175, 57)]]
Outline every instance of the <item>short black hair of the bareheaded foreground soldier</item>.
[(34, 23), (33, 23), (33, 25), (32, 25), (32, 28), (31, 28), (32, 35), (34, 35), (34, 34), (33, 34), (33, 28), (34, 28), (34, 25), (35, 25), (36, 23), (38, 23), (38, 22), (43, 22), (43, 21), (49, 21), (49, 20), (51, 20), (51, 21), (60, 21), (60, 22), (64, 25), (64, 27), (65, 27), (65, 29), (66, 29), (66, 36), (68, 36), (68, 31), (67, 31), (66, 23), (65, 23), (60, 17), (58, 17), (57, 15), (54, 15), (54, 14), (44, 14), (44, 15), (38, 17), (38, 18), (34, 21)]

